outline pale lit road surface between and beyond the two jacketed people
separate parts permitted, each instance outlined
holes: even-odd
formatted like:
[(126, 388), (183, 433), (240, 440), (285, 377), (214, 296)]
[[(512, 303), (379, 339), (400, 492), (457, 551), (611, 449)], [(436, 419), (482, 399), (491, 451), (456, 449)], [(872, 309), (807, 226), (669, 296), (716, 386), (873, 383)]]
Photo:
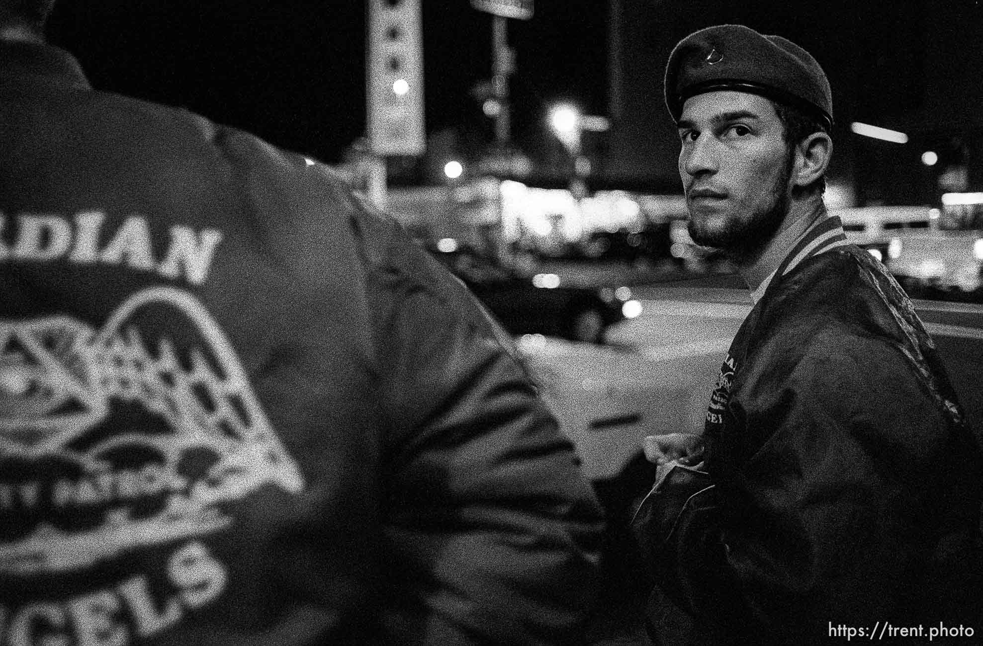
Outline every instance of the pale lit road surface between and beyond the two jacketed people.
[[(616, 478), (646, 435), (703, 429), (723, 356), (751, 309), (735, 277), (632, 288), (643, 306), (607, 345), (521, 343), (564, 432), (594, 480)], [(983, 306), (915, 301), (970, 423), (983, 429)]]

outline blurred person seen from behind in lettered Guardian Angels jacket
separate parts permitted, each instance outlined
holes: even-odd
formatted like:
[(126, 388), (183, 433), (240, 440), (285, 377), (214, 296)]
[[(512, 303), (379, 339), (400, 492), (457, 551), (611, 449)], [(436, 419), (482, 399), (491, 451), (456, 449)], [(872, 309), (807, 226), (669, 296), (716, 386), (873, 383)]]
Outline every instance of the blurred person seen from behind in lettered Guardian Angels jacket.
[(601, 511), (510, 340), (46, 10), (0, 0), (0, 643), (576, 642)]

